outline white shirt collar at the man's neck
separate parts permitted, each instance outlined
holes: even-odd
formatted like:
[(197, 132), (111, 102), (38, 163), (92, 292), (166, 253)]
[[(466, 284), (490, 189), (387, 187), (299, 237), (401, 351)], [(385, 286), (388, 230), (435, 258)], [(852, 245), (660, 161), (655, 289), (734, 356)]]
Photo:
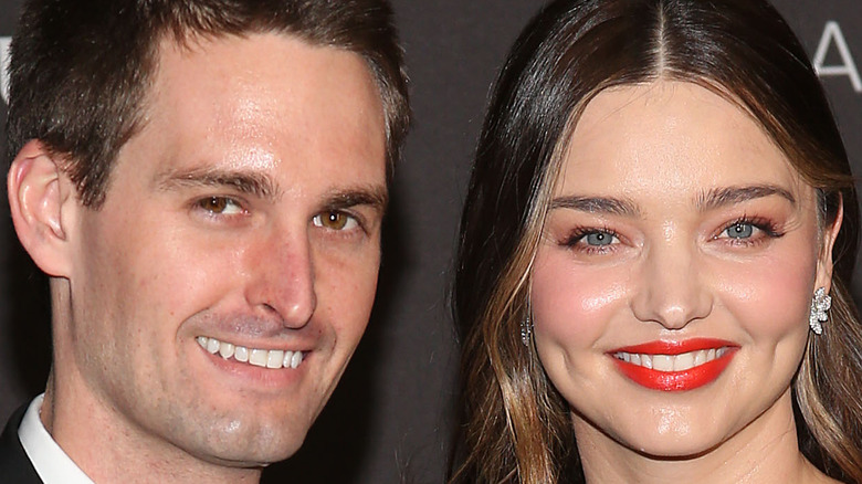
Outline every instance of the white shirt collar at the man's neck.
[(44, 397), (45, 394), (42, 393), (33, 399), (18, 429), (18, 438), (27, 456), (30, 457), (30, 462), (33, 463), (44, 484), (93, 484), (84, 471), (60, 449), (42, 424), (39, 412), (42, 410)]

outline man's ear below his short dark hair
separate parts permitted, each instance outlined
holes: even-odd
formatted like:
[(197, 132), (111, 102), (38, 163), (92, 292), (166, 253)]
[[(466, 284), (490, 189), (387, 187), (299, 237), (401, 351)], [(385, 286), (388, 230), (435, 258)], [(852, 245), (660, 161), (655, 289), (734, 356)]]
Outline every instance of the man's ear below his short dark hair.
[(67, 277), (71, 259), (64, 211), (74, 210), (77, 200), (62, 160), (41, 141), (28, 143), (12, 161), (7, 189), (21, 245), (45, 274)]

